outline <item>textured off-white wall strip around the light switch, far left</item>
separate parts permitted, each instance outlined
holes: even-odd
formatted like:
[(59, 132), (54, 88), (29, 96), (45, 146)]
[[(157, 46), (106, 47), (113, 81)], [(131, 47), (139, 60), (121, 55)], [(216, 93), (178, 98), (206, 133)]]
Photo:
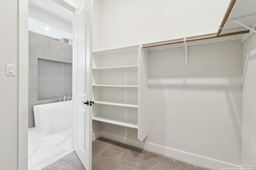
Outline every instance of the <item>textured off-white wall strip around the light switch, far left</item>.
[(18, 62), (17, 1), (0, 1), (0, 169), (18, 169), (18, 67), (5, 75), (5, 64)]

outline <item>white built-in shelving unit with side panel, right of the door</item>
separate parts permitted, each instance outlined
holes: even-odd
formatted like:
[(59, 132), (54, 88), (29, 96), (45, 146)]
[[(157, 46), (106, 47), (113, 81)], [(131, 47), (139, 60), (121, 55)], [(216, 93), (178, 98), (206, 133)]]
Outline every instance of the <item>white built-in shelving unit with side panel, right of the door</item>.
[(146, 80), (146, 69), (138, 49), (136, 46), (93, 53), (92, 119), (138, 129), (138, 139), (142, 141), (147, 136), (146, 107), (140, 106), (147, 105), (147, 100), (142, 104), (147, 99), (147, 86), (140, 86)]

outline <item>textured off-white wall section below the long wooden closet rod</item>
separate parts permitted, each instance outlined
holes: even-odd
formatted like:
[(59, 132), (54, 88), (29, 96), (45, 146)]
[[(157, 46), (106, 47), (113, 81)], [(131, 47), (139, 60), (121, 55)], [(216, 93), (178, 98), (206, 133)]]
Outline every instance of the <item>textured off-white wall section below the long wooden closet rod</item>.
[(239, 40), (149, 51), (147, 142), (240, 165)]

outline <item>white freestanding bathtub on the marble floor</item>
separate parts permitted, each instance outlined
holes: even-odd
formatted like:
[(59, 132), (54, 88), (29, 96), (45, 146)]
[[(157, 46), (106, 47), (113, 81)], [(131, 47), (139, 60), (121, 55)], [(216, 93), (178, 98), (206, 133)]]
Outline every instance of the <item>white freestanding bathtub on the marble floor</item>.
[(54, 133), (72, 125), (72, 100), (34, 106), (36, 129)]

